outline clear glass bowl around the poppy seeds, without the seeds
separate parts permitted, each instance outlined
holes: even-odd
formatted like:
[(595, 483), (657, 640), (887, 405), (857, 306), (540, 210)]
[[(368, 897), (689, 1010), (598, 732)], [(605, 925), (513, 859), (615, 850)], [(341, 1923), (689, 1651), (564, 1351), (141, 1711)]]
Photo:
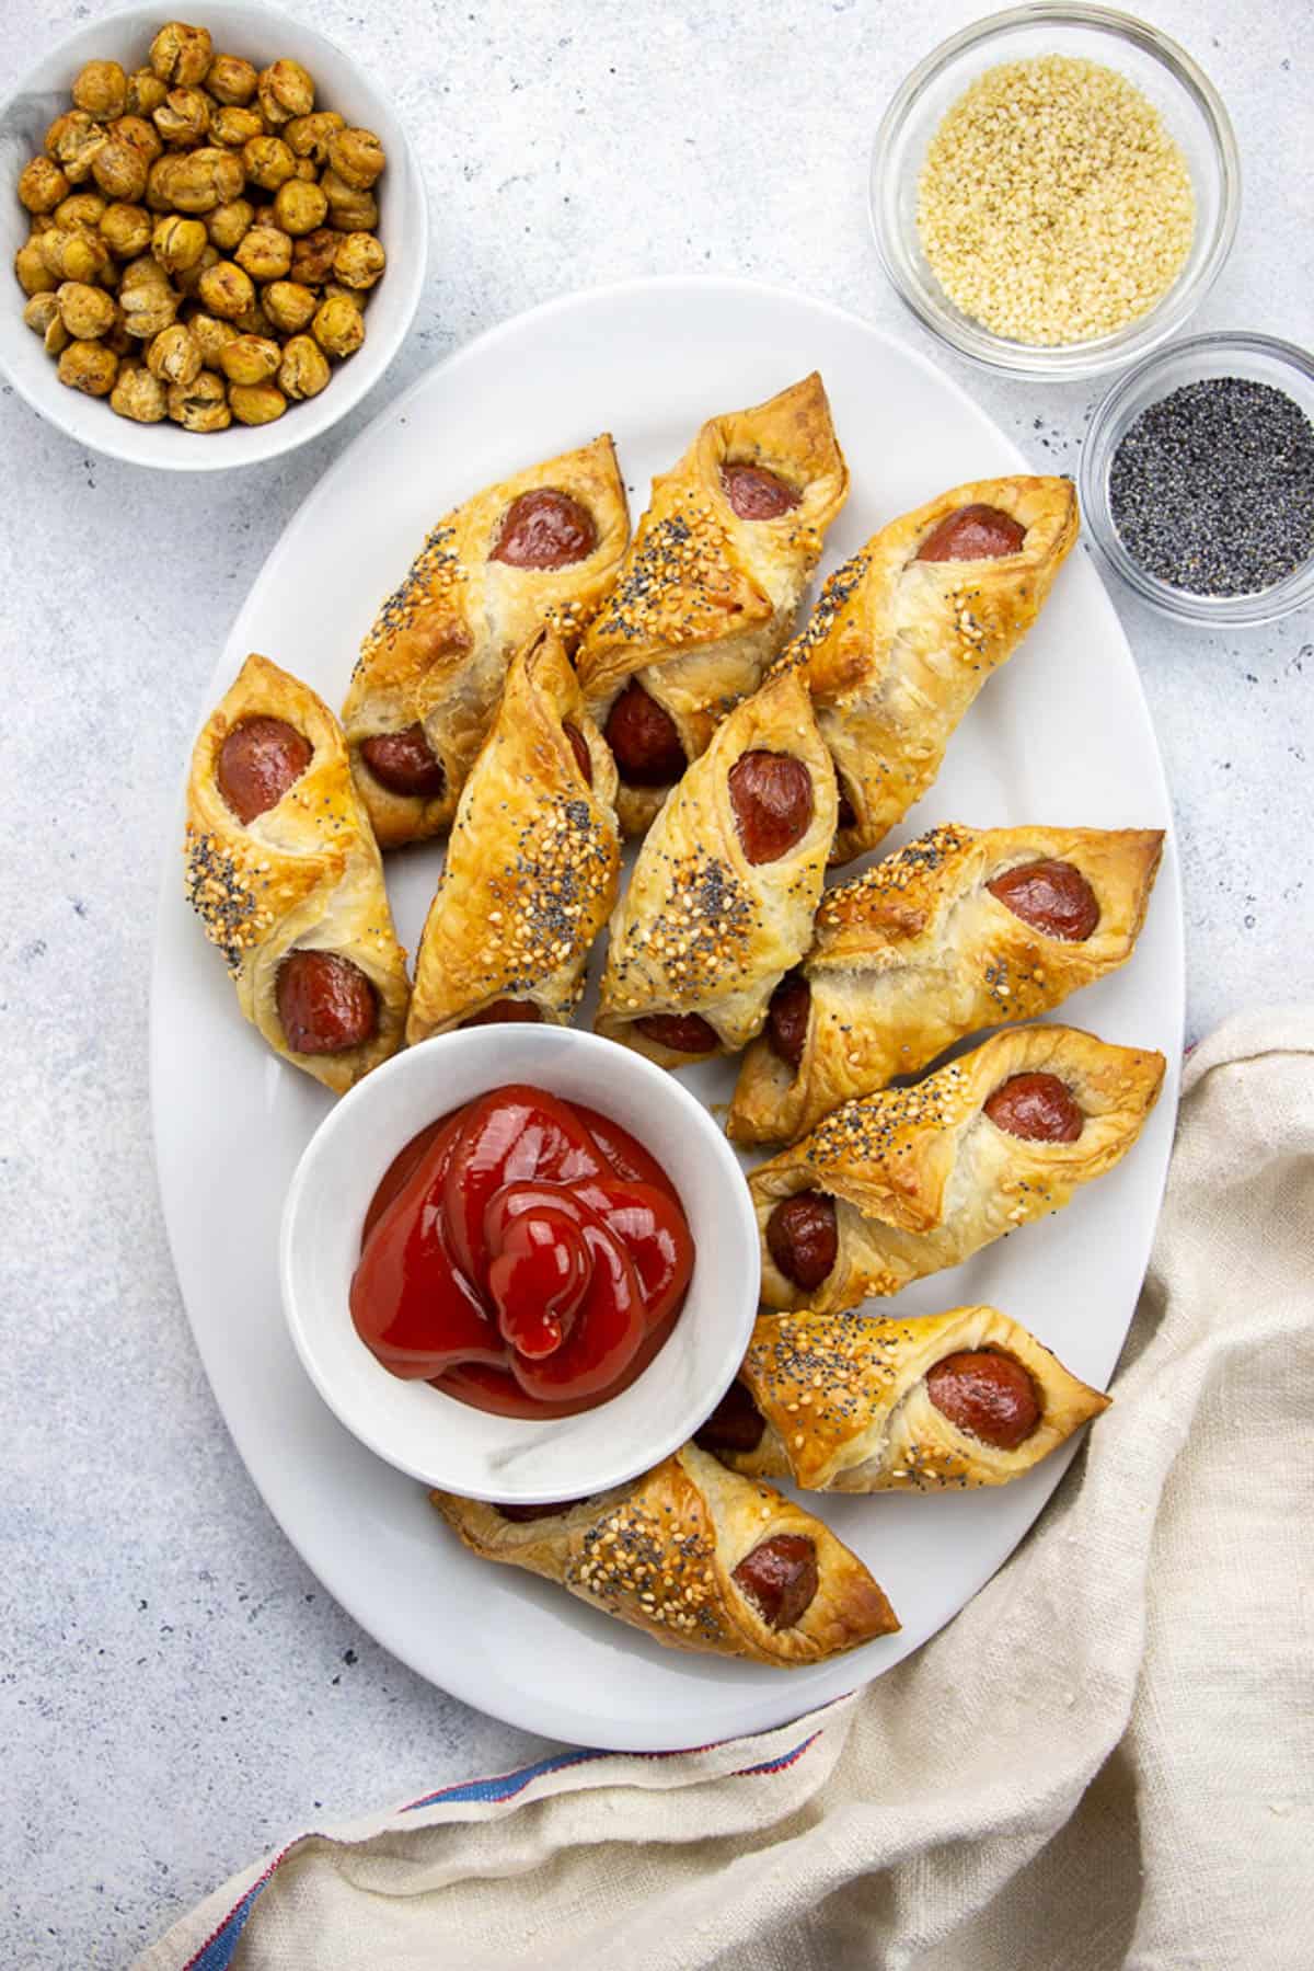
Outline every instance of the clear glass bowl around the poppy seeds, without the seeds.
[(1192, 595), (1190, 589), (1160, 581), (1133, 560), (1109, 510), (1109, 465), (1123, 432), (1149, 404), (1180, 390), (1182, 384), (1212, 376), (1247, 376), (1251, 382), (1273, 384), (1314, 424), (1314, 357), (1308, 351), (1271, 335), (1192, 335), (1156, 351), (1127, 376), (1119, 376), (1099, 404), (1082, 445), (1082, 512), (1105, 560), (1137, 595), (1164, 615), (1178, 623), (1204, 623), (1214, 629), (1275, 623), (1314, 599), (1314, 556), (1271, 589), (1257, 589), (1253, 595)]

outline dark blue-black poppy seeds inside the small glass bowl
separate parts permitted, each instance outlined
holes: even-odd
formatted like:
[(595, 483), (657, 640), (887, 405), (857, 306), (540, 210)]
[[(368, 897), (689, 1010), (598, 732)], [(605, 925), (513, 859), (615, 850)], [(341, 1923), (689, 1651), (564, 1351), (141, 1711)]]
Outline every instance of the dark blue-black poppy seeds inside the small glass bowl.
[(1123, 434), (1109, 512), (1133, 560), (1176, 589), (1271, 589), (1314, 554), (1314, 426), (1273, 384), (1188, 382)]

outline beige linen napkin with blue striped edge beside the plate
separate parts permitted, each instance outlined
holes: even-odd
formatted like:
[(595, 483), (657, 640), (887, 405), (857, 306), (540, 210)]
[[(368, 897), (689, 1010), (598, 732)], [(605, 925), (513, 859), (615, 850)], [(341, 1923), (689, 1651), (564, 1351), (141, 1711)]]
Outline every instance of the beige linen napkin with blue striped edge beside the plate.
[(142, 1971), (1314, 1965), (1314, 1009), (1186, 1068), (1150, 1275), (1036, 1531), (760, 1738), (305, 1835)]

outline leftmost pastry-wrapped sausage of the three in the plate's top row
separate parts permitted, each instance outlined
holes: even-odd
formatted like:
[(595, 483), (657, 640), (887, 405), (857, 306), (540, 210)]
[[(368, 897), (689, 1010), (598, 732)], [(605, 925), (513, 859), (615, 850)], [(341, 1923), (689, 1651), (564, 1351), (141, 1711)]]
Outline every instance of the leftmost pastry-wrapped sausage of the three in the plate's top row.
[(607, 432), (437, 522), (361, 645), (343, 706), (382, 848), (447, 828), (510, 656), (540, 623), (573, 648), (617, 579), (628, 532)]

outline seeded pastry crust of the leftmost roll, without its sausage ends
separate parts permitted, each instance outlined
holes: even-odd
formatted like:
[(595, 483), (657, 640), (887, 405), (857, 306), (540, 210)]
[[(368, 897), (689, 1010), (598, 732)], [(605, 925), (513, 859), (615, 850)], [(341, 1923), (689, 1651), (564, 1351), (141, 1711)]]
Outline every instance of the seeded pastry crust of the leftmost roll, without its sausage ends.
[[(219, 790), (219, 751), (234, 725), (276, 717), (313, 747), (282, 800), (240, 822)], [(361, 804), (341, 725), (307, 684), (268, 656), (248, 656), (201, 727), (187, 781), (187, 901), (225, 954), (236, 999), (284, 1060), (335, 1094), (402, 1045), (410, 982), (392, 928), (382, 861)], [(339, 952), (364, 972), (378, 1031), (339, 1054), (297, 1054), (278, 1017), (278, 968), (292, 948)]]

